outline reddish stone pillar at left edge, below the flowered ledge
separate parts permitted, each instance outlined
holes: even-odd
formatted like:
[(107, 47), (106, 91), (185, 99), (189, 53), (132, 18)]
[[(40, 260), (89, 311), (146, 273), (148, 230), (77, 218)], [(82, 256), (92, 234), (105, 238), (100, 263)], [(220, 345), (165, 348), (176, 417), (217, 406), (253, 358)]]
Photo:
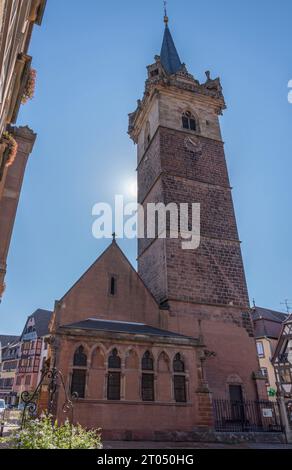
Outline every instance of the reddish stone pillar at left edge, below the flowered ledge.
[(6, 259), (24, 172), (36, 139), (36, 134), (28, 127), (15, 127), (9, 131), (18, 143), (18, 152), (13, 164), (7, 169), (0, 200), (0, 298), (5, 289)]

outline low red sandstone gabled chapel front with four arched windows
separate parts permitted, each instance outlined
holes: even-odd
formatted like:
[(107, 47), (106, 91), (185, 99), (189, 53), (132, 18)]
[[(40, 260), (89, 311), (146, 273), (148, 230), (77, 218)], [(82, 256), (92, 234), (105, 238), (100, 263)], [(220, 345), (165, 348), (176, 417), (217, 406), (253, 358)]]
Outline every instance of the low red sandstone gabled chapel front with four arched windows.
[[(116, 279), (114, 295), (109, 292), (112, 276)], [(103, 437), (110, 439), (153, 439), (157, 432), (187, 433), (195, 427), (212, 426), (210, 395), (201, 372), (204, 345), (198, 338), (161, 329), (164, 317), (116, 242), (56, 303), (51, 322), (51, 364), (62, 372), (68, 395), (74, 391), (74, 370), (86, 373), (84, 396), (74, 402), (74, 421), (101, 427)], [(98, 327), (100, 321), (105, 329)], [(86, 326), (94, 322), (96, 328)], [(121, 330), (114, 331), (113, 325)], [(146, 328), (145, 332), (135, 331), (140, 327)], [(87, 360), (86, 365), (75, 367), (74, 354), (79, 347)], [(109, 357), (115, 349), (121, 360), (120, 396), (109, 400)], [(153, 400), (143, 399), (142, 394), (142, 358), (146, 352), (153, 358)], [(182, 402), (176, 401), (174, 391), (177, 354), (184, 363), (179, 374), (185, 380)], [(65, 401), (65, 392), (59, 387), (56, 415), (60, 420), (64, 419)]]

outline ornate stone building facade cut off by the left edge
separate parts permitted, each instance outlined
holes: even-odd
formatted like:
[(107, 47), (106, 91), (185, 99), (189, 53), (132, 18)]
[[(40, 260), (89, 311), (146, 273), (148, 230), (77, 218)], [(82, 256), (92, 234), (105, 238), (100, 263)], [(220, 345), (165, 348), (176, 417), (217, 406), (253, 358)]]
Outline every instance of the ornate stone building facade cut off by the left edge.
[[(35, 140), (32, 131), (11, 131), (11, 125), (16, 123), (30, 77), (32, 31), (35, 24), (41, 24), (45, 6), (46, 0), (0, 2), (0, 299), (25, 164)], [(10, 139), (13, 145), (19, 144), (16, 155)]]

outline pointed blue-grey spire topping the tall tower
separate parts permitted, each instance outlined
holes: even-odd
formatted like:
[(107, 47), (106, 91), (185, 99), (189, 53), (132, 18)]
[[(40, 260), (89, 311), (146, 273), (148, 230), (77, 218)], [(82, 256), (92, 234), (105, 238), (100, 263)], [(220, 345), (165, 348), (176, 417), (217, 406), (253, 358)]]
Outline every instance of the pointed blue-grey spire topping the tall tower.
[(171, 33), (169, 31), (166, 1), (164, 1), (164, 23), (165, 31), (160, 53), (160, 61), (164, 70), (169, 75), (172, 75), (174, 73), (177, 73), (182, 68), (182, 63), (180, 61), (178, 52), (176, 50)]

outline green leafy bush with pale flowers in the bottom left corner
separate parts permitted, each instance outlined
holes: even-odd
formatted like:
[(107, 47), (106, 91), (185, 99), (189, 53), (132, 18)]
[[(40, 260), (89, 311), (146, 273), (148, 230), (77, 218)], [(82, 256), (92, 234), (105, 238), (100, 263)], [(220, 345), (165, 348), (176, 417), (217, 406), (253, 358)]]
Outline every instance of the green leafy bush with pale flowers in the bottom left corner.
[(100, 434), (87, 431), (79, 424), (74, 426), (67, 420), (52, 424), (52, 417), (43, 414), (29, 420), (22, 430), (14, 432), (10, 440), (14, 449), (101, 449)]

